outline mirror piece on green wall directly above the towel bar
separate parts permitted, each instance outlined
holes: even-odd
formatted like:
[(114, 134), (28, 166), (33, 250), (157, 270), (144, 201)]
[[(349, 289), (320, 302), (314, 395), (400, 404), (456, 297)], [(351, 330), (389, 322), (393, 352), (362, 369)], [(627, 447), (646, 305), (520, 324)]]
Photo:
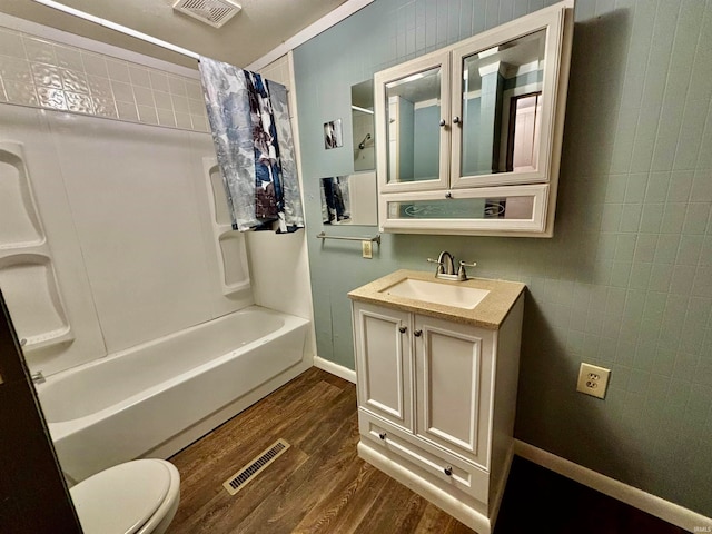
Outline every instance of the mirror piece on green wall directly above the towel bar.
[(376, 172), (322, 178), (322, 220), (325, 225), (378, 224)]

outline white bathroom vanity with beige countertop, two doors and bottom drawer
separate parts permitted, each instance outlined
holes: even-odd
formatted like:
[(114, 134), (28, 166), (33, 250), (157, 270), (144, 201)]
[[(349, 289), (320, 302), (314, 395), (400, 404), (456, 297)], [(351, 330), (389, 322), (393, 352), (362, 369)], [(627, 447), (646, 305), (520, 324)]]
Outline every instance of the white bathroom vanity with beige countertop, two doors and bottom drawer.
[(359, 456), (481, 534), (512, 462), (524, 287), (398, 270), (348, 294)]

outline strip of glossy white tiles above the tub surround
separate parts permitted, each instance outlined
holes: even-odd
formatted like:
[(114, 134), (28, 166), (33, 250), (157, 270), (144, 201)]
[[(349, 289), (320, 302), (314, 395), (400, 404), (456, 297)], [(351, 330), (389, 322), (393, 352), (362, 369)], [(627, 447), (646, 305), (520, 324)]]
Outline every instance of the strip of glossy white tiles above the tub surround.
[(2, 27), (0, 102), (208, 131), (199, 81)]

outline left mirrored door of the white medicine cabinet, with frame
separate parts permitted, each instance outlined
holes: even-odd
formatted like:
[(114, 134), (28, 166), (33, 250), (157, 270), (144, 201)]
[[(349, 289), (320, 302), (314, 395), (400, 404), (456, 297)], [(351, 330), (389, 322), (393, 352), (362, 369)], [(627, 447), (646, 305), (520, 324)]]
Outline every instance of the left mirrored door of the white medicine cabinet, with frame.
[(448, 55), (429, 55), (378, 73), (375, 85), (382, 190), (447, 187)]

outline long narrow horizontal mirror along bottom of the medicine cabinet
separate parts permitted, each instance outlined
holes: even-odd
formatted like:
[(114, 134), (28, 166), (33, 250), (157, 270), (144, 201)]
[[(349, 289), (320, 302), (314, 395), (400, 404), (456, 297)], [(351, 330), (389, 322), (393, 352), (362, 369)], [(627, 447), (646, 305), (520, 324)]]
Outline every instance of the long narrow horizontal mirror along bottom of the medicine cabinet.
[(407, 200), (388, 202), (389, 219), (524, 219), (534, 215), (534, 196)]

